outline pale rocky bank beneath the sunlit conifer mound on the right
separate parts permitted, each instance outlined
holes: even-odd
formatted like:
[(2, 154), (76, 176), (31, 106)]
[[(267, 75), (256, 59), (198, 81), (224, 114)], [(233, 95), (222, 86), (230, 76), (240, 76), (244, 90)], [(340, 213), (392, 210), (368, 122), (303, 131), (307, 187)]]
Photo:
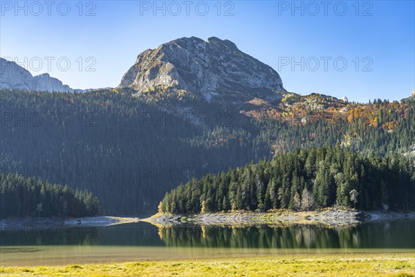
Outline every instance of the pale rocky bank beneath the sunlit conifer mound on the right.
[(144, 222), (158, 226), (182, 224), (199, 224), (201, 226), (251, 226), (261, 224), (326, 224), (341, 226), (360, 224), (373, 220), (390, 220), (398, 218), (414, 218), (415, 212), (398, 213), (387, 211), (363, 212), (357, 210), (342, 210), (337, 208), (318, 211), (295, 212), (278, 210), (270, 212), (235, 211), (200, 214), (162, 214), (157, 213), (148, 217)]

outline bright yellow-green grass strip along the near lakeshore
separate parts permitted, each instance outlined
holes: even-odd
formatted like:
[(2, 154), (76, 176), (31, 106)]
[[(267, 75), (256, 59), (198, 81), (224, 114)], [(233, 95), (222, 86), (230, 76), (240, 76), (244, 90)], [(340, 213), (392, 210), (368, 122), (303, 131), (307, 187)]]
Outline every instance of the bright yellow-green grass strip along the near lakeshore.
[(0, 276), (414, 276), (415, 253), (344, 253), (0, 267)]

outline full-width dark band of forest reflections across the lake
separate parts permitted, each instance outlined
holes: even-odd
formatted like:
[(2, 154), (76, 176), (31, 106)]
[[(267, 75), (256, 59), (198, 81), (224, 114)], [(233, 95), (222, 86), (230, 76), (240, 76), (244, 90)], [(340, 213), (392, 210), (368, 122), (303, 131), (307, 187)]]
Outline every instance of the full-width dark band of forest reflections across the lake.
[(414, 249), (415, 220), (367, 222), (353, 226), (27, 226), (1, 230), (1, 246), (125, 245), (148, 247), (234, 247), (273, 249)]

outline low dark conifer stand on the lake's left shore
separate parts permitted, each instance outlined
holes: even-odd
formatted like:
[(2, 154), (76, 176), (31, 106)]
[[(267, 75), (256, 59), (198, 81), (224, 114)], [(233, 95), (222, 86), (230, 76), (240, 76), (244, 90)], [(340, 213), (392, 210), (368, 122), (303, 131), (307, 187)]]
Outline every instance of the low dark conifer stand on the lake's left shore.
[(82, 217), (98, 215), (100, 210), (98, 198), (88, 190), (0, 172), (0, 218)]

